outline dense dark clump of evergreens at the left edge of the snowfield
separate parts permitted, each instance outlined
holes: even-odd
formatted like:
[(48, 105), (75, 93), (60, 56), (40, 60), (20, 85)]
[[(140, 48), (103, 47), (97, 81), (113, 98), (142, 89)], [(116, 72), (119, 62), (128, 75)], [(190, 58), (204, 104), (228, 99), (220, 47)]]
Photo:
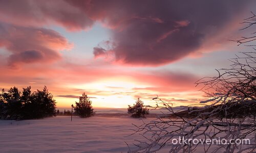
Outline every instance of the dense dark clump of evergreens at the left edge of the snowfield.
[(56, 101), (45, 86), (42, 90), (32, 92), (31, 87), (5, 89), (0, 94), (1, 119), (38, 119), (56, 116)]

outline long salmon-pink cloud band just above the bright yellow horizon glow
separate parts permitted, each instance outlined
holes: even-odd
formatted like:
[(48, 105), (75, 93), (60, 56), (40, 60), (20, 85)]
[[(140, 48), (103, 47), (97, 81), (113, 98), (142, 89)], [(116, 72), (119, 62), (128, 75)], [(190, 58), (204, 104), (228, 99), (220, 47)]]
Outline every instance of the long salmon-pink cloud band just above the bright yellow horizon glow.
[[(195, 74), (186, 72), (136, 71), (101, 66), (95, 68), (71, 63), (28, 65), (22, 69), (2, 67), (0, 71), (5, 71), (4, 74), (0, 75), (0, 79), (4, 80), (5, 84), (61, 87), (67, 84), (81, 85), (104, 80), (115, 82), (118, 78), (123, 78), (122, 80), (127, 83), (138, 85), (131, 90), (150, 90), (156, 93), (195, 90), (194, 83), (200, 78)], [(141, 84), (147, 85), (147, 87), (141, 87)], [(60, 88), (59, 90), (67, 89)], [(111, 90), (117, 89), (109, 89), (108, 91)]]

